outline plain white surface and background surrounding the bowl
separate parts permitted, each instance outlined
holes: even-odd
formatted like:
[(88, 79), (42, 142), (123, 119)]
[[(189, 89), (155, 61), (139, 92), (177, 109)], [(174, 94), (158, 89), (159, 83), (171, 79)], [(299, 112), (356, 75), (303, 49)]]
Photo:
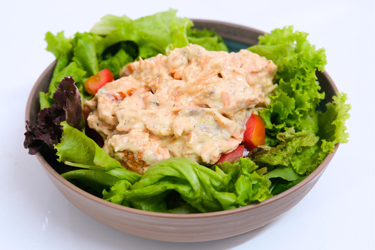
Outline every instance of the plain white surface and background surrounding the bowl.
[[(138, 18), (169, 7), (264, 31), (294, 24), (326, 48), (326, 70), (353, 106), (350, 142), (311, 192), (243, 235), (181, 244), (116, 231), (70, 204), (23, 148), (28, 94), (54, 60), (44, 50), (47, 31), (72, 35), (108, 13)], [(2, 1), (0, 249), (374, 249), (374, 8), (374, 1)]]

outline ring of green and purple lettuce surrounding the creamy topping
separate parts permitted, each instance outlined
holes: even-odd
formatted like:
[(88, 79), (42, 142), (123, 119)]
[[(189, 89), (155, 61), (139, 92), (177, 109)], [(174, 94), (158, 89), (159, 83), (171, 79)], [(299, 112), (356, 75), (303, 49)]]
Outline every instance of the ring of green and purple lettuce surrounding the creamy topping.
[(266, 127), (264, 146), (233, 164), (207, 167), (176, 157), (157, 162), (144, 175), (124, 169), (85, 135), (82, 103), (93, 96), (84, 83), (104, 68), (117, 79), (127, 63), (189, 43), (228, 51), (213, 30), (192, 29), (191, 20), (175, 13), (171, 9), (136, 20), (107, 15), (90, 33), (73, 38), (63, 31), (46, 33), (46, 49), (57, 65), (48, 91), (39, 94), (36, 124), (27, 121), (24, 146), (29, 153), (40, 151), (62, 177), (107, 201), (163, 213), (207, 213), (284, 192), (311, 174), (336, 143), (348, 142), (347, 95), (337, 93), (333, 102), (324, 104), (315, 75), (324, 71), (325, 50), (316, 49), (307, 33), (290, 26), (260, 36), (258, 45), (248, 48), (278, 66), (275, 95), (259, 112)]

